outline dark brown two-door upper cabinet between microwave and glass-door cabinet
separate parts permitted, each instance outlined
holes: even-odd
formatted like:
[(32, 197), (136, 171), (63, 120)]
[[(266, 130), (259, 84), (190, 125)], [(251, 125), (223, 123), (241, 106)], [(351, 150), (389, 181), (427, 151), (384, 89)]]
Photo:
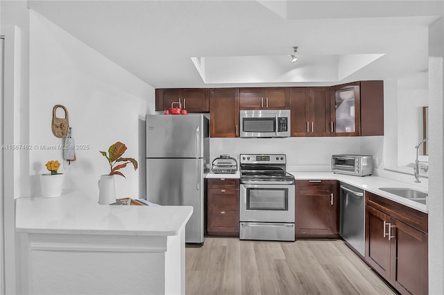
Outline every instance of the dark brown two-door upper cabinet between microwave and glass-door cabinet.
[(330, 87), (290, 89), (291, 136), (329, 136)]

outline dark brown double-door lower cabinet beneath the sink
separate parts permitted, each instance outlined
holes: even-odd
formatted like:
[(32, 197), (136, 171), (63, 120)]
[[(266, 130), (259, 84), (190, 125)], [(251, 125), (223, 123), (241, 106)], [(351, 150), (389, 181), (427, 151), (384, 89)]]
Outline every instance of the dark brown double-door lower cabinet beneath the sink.
[(401, 294), (428, 293), (427, 214), (366, 192), (366, 262)]

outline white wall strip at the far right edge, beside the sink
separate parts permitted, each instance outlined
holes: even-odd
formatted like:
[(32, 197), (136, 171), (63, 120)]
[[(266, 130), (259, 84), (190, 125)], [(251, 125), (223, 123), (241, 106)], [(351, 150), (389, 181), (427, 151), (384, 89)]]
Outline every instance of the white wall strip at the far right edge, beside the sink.
[(444, 20), (429, 26), (429, 294), (444, 294)]

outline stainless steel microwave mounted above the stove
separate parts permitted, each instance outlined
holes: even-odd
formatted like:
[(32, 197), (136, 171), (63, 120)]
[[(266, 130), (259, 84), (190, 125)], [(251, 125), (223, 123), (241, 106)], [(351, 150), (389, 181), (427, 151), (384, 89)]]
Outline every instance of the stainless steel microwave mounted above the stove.
[(241, 110), (241, 137), (289, 137), (290, 110)]

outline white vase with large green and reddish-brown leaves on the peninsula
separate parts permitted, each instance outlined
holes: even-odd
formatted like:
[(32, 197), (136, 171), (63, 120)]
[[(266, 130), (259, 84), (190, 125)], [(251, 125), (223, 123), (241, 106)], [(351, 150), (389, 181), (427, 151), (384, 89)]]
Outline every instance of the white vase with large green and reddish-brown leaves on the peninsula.
[(119, 171), (120, 169), (125, 168), (128, 164), (133, 164), (134, 170), (137, 170), (138, 165), (135, 159), (122, 157), (126, 149), (125, 144), (116, 142), (110, 146), (108, 153), (106, 151), (100, 151), (110, 165), (110, 173), (101, 175), (99, 180), (99, 204), (101, 205), (108, 205), (116, 201), (114, 175), (125, 177), (123, 173)]

